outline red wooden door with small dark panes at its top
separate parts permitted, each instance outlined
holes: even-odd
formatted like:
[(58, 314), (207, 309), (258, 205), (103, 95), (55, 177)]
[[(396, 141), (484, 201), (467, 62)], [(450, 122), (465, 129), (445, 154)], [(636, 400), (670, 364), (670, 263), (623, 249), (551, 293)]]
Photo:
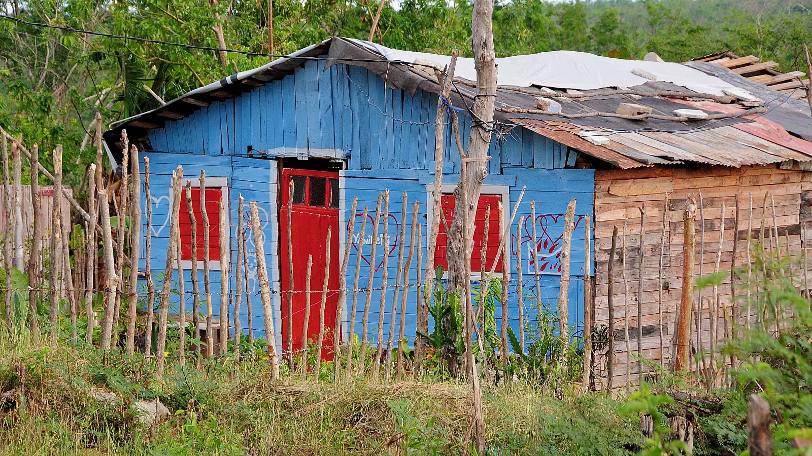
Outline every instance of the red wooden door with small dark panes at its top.
[[(293, 196), (289, 195), (293, 180)], [(287, 239), (287, 209), (292, 204), (291, 238)], [(279, 232), (282, 274), (282, 347), (287, 350), (287, 292), (291, 289), (288, 244), (293, 257), (293, 350), (302, 346), (304, 311), (307, 304), (306, 276), (308, 256), (313, 256), (310, 277), (310, 318), (308, 338), (317, 343), (318, 317), (324, 288), (327, 228), (330, 235), (330, 278), (324, 311), (325, 338), (322, 359), (332, 359), (335, 308), (339, 302), (339, 174), (326, 171), (285, 169), (282, 172), (282, 205), (279, 209)], [(340, 342), (340, 335), (339, 335)]]

